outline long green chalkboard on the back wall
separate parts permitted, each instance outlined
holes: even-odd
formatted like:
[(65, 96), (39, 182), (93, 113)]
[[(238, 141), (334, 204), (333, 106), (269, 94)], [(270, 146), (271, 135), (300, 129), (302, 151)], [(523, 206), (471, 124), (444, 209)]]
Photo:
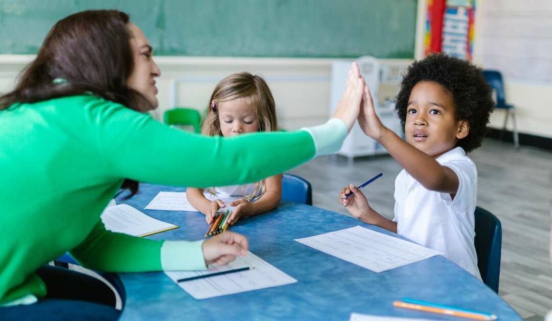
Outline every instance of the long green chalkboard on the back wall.
[(120, 9), (156, 55), (412, 58), (416, 0), (0, 0), (0, 54), (35, 54), (66, 15)]

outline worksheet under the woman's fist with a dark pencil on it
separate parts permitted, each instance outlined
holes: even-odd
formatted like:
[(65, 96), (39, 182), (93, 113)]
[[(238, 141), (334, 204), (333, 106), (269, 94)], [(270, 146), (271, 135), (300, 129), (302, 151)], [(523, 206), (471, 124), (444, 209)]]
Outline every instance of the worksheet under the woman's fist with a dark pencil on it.
[[(181, 278), (239, 269), (245, 266), (251, 266), (253, 269), (205, 277), (199, 280), (177, 282)], [(212, 264), (208, 271), (166, 271), (165, 273), (194, 299), (208, 299), (297, 282), (295, 278), (276, 269), (251, 252), (248, 252), (246, 256), (236, 257), (235, 261), (226, 266)]]

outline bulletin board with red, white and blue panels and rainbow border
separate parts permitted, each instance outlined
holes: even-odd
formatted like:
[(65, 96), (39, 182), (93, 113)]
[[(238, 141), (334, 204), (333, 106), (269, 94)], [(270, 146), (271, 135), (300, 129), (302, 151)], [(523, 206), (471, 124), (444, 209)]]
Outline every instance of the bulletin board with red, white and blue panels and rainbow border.
[(445, 52), (471, 60), (475, 0), (428, 0), (424, 54)]

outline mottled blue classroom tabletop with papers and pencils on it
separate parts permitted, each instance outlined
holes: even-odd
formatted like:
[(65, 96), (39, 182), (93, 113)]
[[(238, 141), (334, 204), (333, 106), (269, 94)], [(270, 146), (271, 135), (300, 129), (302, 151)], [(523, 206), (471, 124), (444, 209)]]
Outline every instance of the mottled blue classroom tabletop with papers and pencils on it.
[[(123, 194), (116, 201), (180, 227), (147, 238), (203, 239), (208, 228), (203, 214), (144, 209), (160, 191), (185, 192), (185, 188), (141, 184), (139, 194), (127, 201)], [(346, 215), (282, 202), (275, 211), (242, 219), (231, 230), (246, 235), (251, 252), (298, 282), (196, 300), (163, 272), (119, 273), (126, 291), (121, 320), (348, 320), (352, 312), (458, 320), (394, 308), (392, 302), (401, 298), (494, 313), (499, 320), (521, 320), (495, 292), (443, 256), (375, 273), (294, 241), (356, 225), (397, 236)]]

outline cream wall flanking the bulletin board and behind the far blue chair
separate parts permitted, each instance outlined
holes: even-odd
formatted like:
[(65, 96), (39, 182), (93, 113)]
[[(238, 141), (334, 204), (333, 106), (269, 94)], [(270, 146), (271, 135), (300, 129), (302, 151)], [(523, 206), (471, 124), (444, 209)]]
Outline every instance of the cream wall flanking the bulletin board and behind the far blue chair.
[[(476, 0), (477, 10), (475, 13), (475, 47), (474, 62), (485, 68), (482, 64), (481, 48), (482, 30), (484, 23), (483, 12), (486, 4), (485, 0)], [(416, 33), (416, 59), (423, 57), (424, 25), (426, 21), (427, 0), (418, 0), (418, 17)], [(529, 50), (529, 49), (528, 49)], [(550, 93), (552, 93), (552, 84), (529, 83), (512, 81), (505, 78), (506, 101), (516, 107), (517, 128), (521, 133), (533, 134), (552, 138), (552, 107), (550, 107)], [(495, 110), (491, 115), (492, 128), (502, 128), (505, 117), (503, 110)], [(511, 120), (508, 122), (509, 130), (512, 130)]]

